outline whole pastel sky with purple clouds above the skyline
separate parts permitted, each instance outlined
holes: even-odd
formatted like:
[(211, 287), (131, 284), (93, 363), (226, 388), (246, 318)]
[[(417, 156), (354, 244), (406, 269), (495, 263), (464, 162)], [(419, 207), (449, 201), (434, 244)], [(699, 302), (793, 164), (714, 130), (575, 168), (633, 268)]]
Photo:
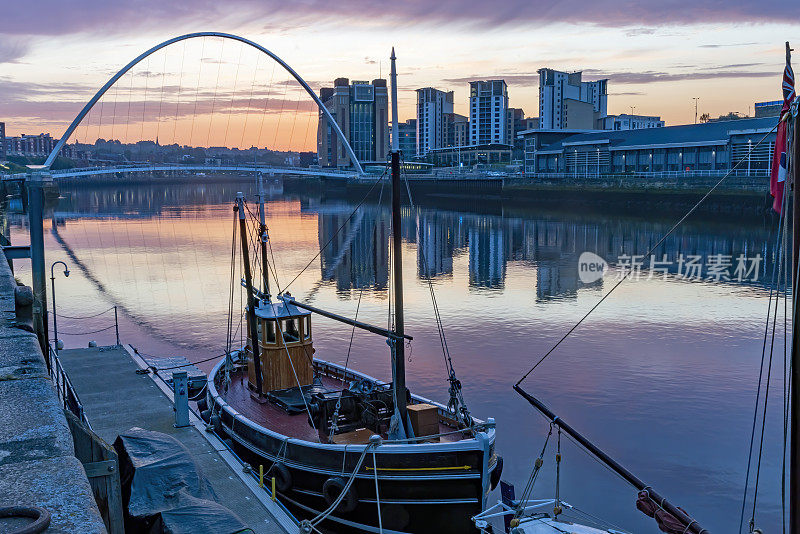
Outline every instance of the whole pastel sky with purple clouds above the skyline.
[[(661, 115), (668, 125), (752, 113), (780, 98), (784, 42), (800, 42), (788, 1), (690, 2), (106, 2), (44, 0), (2, 9), (0, 121), (8, 135), (60, 136), (121, 66), (181, 33), (252, 39), (315, 90), (339, 76), (388, 72), (396, 47), (400, 118), (414, 89), (454, 90), (467, 114), (467, 82), (504, 78), (510, 105), (535, 116), (537, 69), (609, 78), (609, 113)], [(193, 145), (315, 146), (313, 103), (280, 67), (234, 42), (197, 39), (140, 64), (95, 108), (74, 139), (155, 139)]]

